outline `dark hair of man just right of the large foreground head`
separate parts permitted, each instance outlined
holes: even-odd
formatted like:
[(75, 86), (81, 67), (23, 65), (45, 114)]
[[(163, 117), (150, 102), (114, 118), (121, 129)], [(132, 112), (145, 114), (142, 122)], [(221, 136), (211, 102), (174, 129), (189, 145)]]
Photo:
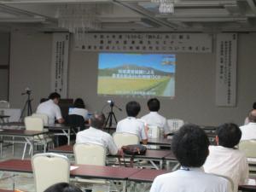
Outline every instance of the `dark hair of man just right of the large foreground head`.
[(227, 123), (217, 128), (218, 145), (225, 148), (234, 148), (241, 139), (241, 130), (236, 124)]

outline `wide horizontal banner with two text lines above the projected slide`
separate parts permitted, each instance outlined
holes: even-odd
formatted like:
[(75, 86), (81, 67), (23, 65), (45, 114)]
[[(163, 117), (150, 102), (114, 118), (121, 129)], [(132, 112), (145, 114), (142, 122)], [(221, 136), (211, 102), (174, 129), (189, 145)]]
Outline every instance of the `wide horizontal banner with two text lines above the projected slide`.
[(76, 50), (108, 52), (211, 53), (212, 35), (205, 33), (85, 33)]

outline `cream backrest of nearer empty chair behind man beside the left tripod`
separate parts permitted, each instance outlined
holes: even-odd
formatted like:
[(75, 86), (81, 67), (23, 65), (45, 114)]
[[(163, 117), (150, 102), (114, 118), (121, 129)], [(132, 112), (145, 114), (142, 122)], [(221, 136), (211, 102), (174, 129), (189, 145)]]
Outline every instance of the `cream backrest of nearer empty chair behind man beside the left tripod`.
[(29, 131), (43, 131), (44, 130), (44, 121), (42, 118), (27, 116), (24, 120), (26, 130)]

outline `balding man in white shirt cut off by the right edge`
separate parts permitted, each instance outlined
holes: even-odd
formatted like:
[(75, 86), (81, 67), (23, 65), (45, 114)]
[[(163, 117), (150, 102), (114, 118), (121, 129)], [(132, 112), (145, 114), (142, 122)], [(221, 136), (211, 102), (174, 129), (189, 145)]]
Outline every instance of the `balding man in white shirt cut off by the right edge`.
[(241, 141), (256, 139), (256, 109), (250, 111), (248, 119), (249, 123), (240, 127)]

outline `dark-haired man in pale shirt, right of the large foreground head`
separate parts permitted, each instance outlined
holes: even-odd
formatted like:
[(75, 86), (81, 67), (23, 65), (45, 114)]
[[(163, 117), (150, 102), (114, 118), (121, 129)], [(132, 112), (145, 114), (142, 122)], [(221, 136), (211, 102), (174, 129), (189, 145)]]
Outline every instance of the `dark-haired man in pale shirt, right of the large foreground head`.
[(217, 129), (217, 146), (210, 146), (210, 154), (204, 164), (205, 172), (230, 177), (234, 191), (239, 184), (246, 184), (248, 164), (246, 155), (236, 148), (241, 138), (241, 130), (236, 124), (220, 125)]

